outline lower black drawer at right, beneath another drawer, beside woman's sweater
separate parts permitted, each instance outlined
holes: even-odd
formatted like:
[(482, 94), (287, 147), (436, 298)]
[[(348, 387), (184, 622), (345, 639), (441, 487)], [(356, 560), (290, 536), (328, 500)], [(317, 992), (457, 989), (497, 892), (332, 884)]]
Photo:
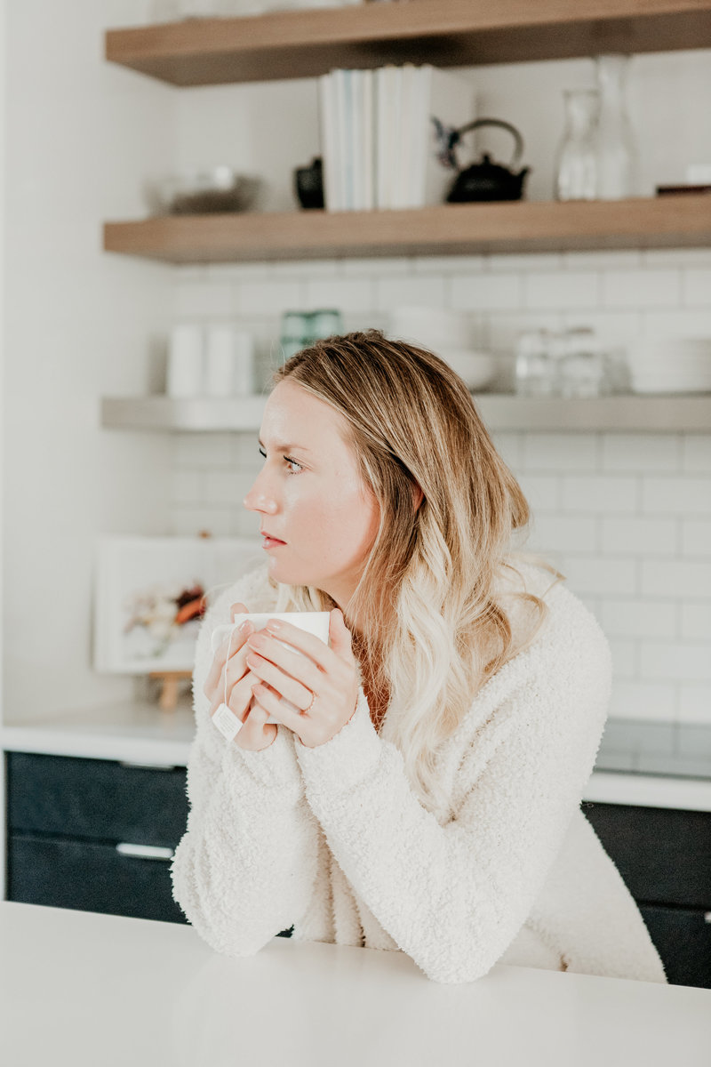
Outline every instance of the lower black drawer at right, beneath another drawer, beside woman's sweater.
[(711, 989), (711, 922), (709, 912), (690, 908), (640, 906), (666, 976), (677, 986)]

